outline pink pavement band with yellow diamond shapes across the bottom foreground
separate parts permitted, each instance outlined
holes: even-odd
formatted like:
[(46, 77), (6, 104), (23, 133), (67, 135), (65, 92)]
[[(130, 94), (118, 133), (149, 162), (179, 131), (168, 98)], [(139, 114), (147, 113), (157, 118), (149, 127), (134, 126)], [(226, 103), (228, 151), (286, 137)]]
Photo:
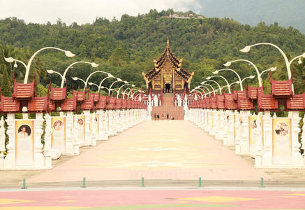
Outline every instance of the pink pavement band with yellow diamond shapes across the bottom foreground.
[[(171, 207), (170, 205), (172, 205), (172, 208), (167, 209), (174, 209), (179, 205), (183, 207), (190, 204), (206, 204), (209, 207), (207, 209), (218, 209), (213, 206), (217, 204), (226, 206), (226, 209), (303, 209), (305, 207), (304, 195), (304, 192), (254, 190), (54, 190), (3, 192), (0, 193), (0, 209), (8, 207), (16, 207), (16, 209), (17, 207), (104, 207), (107, 209), (107, 207), (136, 207), (137, 205), (142, 205), (141, 209), (153, 209), (149, 208), (149, 205), (159, 205), (159, 207)], [(17, 202), (18, 200), (19, 202)]]

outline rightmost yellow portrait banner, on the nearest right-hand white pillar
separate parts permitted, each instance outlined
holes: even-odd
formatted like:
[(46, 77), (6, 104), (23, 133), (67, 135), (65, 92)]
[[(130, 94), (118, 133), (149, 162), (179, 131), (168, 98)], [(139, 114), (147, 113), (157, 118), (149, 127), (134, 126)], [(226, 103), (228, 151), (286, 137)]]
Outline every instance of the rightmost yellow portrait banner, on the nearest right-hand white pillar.
[(290, 118), (272, 119), (273, 164), (291, 164), (292, 135)]

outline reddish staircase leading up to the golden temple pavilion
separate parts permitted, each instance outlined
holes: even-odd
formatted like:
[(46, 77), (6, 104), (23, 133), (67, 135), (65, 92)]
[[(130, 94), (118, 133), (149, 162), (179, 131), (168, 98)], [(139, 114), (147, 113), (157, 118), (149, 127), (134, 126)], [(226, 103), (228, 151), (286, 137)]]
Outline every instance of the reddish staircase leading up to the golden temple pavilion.
[[(172, 93), (164, 93), (163, 94), (163, 102), (162, 106), (154, 106), (151, 111), (152, 120), (171, 120), (172, 117), (174, 120), (184, 120), (184, 109), (182, 106), (174, 106), (174, 102), (172, 101), (173, 94)], [(154, 115), (158, 114), (159, 119), (155, 118)], [(163, 118), (162, 118), (163, 115)], [(167, 118), (167, 115), (169, 116)]]

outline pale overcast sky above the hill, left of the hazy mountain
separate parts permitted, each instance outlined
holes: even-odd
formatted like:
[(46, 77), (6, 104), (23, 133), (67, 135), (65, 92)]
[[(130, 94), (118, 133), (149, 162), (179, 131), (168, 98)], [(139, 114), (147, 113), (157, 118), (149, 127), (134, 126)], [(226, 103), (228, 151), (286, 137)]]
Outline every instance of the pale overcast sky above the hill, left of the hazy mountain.
[(58, 18), (70, 25), (92, 23), (96, 17), (117, 20), (121, 15), (158, 12), (173, 8), (179, 11), (199, 12), (198, 0), (0, 0), (0, 19), (17, 17), (25, 22), (55, 23)]

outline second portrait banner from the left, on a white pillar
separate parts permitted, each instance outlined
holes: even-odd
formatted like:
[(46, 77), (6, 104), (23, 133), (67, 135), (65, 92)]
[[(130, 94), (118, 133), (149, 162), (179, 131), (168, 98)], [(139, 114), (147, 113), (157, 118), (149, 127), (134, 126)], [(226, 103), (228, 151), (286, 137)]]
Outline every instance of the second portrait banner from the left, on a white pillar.
[(66, 118), (52, 117), (51, 147), (54, 151), (66, 151)]

